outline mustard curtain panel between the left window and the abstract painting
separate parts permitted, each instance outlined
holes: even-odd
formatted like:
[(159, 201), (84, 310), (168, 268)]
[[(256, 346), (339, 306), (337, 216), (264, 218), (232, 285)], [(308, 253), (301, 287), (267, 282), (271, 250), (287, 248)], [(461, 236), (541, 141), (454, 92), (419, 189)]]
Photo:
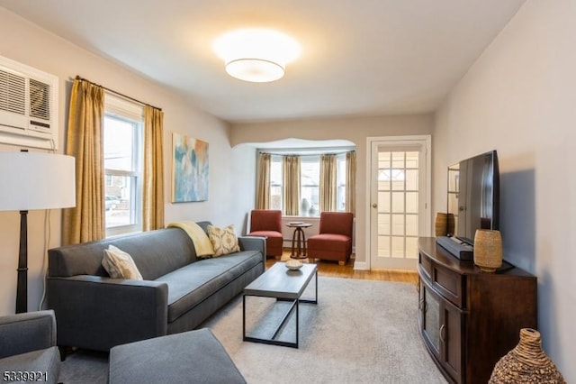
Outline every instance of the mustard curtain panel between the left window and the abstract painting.
[(144, 107), (142, 230), (164, 228), (164, 113)]

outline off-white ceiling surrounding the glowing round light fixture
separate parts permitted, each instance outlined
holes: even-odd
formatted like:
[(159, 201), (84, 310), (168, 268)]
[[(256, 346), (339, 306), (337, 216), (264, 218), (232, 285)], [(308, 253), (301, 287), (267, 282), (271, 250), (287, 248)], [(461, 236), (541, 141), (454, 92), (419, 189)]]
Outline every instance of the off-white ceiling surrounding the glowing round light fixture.
[[(77, 45), (229, 122), (420, 114), (446, 94), (525, 0), (2, 0)], [(230, 78), (212, 41), (275, 28), (302, 55), (273, 83)]]

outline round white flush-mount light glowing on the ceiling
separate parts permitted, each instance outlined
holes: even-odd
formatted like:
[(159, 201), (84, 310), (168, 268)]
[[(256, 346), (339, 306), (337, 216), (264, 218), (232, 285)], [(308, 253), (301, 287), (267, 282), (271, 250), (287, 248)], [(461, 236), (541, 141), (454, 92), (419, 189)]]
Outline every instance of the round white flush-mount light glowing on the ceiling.
[(233, 77), (266, 83), (284, 77), (286, 63), (300, 55), (300, 44), (274, 30), (251, 28), (227, 32), (214, 41), (213, 49), (224, 59)]

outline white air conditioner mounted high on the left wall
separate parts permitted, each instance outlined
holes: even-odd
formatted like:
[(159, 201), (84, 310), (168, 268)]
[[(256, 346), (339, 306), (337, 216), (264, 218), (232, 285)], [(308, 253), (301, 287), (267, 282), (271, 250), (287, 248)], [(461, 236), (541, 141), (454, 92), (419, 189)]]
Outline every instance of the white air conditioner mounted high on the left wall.
[(56, 76), (0, 56), (0, 142), (57, 149)]

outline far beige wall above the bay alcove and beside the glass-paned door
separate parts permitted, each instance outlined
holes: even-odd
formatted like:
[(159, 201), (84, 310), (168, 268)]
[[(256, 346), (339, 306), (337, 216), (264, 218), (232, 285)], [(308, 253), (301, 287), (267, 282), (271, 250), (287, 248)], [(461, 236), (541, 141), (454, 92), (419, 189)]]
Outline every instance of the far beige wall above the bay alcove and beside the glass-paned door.
[[(429, 134), (432, 132), (433, 124), (434, 118), (431, 114), (236, 123), (232, 125), (230, 142), (232, 145), (238, 145), (247, 142), (274, 142), (289, 138), (354, 142), (356, 144), (356, 261), (364, 264), (366, 261), (365, 217), (369, 211), (368, 203), (365, 201), (366, 138)], [(256, 169), (256, 160), (251, 167)]]

